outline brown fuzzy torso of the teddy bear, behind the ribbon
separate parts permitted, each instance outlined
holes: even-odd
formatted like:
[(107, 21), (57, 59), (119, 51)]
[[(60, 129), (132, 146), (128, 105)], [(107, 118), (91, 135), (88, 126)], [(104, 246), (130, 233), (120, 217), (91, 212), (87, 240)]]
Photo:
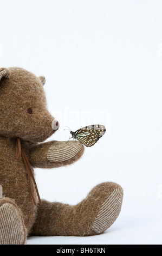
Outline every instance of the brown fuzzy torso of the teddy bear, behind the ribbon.
[[(36, 205), (31, 197), (29, 179), (24, 162), (22, 159), (17, 161), (15, 150), (15, 138), (0, 137), (0, 182), (3, 187), (3, 196), (15, 200), (18, 208), (22, 210), (25, 227), (30, 231), (35, 220)], [(29, 148), (27, 146), (25, 150), (29, 155)], [(33, 191), (35, 200), (37, 200), (34, 186)]]

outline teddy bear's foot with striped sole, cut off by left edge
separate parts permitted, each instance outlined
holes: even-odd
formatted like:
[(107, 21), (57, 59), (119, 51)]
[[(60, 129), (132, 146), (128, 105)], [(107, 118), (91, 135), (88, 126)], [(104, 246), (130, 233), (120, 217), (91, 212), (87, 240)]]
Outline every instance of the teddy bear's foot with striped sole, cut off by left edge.
[(0, 245), (24, 245), (27, 230), (21, 210), (14, 200), (0, 198)]

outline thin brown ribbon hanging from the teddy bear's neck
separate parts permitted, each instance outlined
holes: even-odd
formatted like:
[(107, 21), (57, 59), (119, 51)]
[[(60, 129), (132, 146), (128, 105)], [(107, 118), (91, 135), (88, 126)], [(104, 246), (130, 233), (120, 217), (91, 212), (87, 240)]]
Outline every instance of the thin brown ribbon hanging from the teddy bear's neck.
[(36, 190), (36, 193), (37, 193), (38, 200), (39, 200), (40, 204), (42, 204), (40, 194), (38, 192), (38, 188), (37, 188), (37, 185), (36, 185), (36, 182), (35, 182), (33, 172), (32, 172), (31, 167), (30, 167), (28, 157), (25, 154), (25, 151), (23, 150), (23, 148), (21, 146), (20, 138), (17, 138), (16, 139), (16, 159), (20, 159), (21, 156), (23, 157), (25, 168), (27, 169), (28, 179), (29, 179), (29, 184), (30, 184), (30, 191), (31, 191), (31, 196), (33, 198), (34, 204), (36, 205), (36, 201), (35, 201), (35, 198), (34, 198), (33, 188), (32, 188), (32, 184), (31, 184), (31, 178), (33, 179), (33, 182), (34, 182), (34, 186), (35, 186), (35, 190)]

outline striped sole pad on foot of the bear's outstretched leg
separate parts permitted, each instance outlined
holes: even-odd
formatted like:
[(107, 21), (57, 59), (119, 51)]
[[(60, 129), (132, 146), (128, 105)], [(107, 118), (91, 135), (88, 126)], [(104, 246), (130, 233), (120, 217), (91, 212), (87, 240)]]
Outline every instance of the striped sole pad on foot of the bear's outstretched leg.
[(121, 210), (123, 191), (121, 187), (116, 188), (111, 195), (102, 203), (98, 215), (92, 225), (92, 229), (98, 233), (103, 233), (118, 218)]

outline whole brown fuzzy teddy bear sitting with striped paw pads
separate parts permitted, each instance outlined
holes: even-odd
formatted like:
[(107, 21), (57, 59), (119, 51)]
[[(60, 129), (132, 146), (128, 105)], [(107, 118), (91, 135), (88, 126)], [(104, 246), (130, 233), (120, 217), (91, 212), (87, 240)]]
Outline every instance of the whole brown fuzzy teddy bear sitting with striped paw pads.
[(34, 168), (66, 166), (84, 152), (81, 142), (44, 142), (59, 129), (47, 108), (45, 82), (22, 68), (0, 69), (1, 245), (24, 245), (33, 235), (98, 235), (121, 210), (123, 190), (115, 182), (96, 185), (76, 205), (40, 198)]

